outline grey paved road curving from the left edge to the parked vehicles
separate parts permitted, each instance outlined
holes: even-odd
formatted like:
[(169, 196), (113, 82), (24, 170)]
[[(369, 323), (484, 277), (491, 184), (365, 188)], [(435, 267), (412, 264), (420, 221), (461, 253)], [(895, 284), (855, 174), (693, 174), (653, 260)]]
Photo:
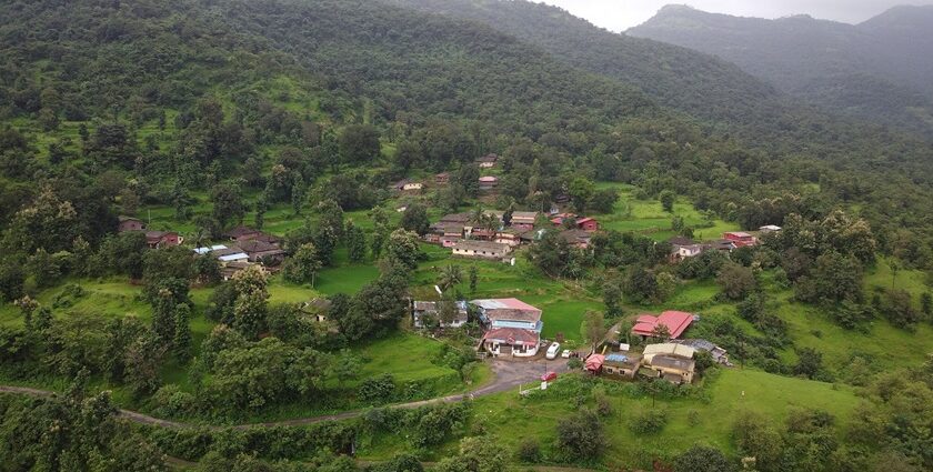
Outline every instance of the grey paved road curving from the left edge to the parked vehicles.
[[(539, 382), (539, 378), (546, 371), (554, 371), (554, 372), (566, 372), (566, 361), (565, 360), (555, 360), (555, 361), (544, 361), (544, 360), (531, 360), (531, 361), (501, 361), (501, 360), (491, 360), (488, 361), (490, 368), (495, 375), (492, 383), (482, 386), (480, 389), (473, 390), (468, 393), (460, 393), (455, 395), (448, 395), (448, 396), (440, 396), (437, 399), (430, 400), (422, 400), (418, 402), (410, 402), (410, 403), (400, 403), (394, 405), (388, 405), (388, 408), (418, 408), (433, 403), (451, 403), (464, 400), (466, 398), (476, 398), (483, 395), (490, 395), (493, 393), (504, 392), (514, 388), (518, 388), (521, 384), (528, 384), (532, 386), (533, 384)], [(13, 386), (13, 385), (0, 385), (0, 392), (2, 393), (16, 393), (21, 395), (33, 395), (33, 396), (49, 396), (54, 394), (56, 392), (51, 392), (48, 390), (39, 390), (39, 389), (31, 389), (28, 386)], [(224, 428), (233, 428), (238, 430), (244, 430), (249, 428), (273, 428), (273, 426), (300, 426), (304, 424), (314, 424), (320, 423), (323, 421), (337, 421), (337, 420), (348, 420), (351, 418), (359, 416), (363, 414), (365, 410), (355, 410), (355, 411), (347, 411), (343, 413), (337, 414), (324, 414), (320, 416), (311, 416), (311, 418), (298, 418), (294, 420), (282, 420), (282, 421), (270, 421), (264, 423), (249, 423), (249, 424), (237, 424), (232, 426), (218, 426), (212, 425), (208, 426), (211, 429), (224, 429)], [(183, 423), (178, 421), (169, 421), (169, 420), (161, 420), (158, 418), (153, 418), (147, 414), (142, 414), (131, 410), (120, 410), (119, 414), (121, 418), (124, 418), (129, 421), (133, 421), (140, 424), (150, 424), (154, 426), (161, 428), (173, 428), (173, 429), (181, 429), (181, 428), (198, 428), (198, 424), (190, 424)]]

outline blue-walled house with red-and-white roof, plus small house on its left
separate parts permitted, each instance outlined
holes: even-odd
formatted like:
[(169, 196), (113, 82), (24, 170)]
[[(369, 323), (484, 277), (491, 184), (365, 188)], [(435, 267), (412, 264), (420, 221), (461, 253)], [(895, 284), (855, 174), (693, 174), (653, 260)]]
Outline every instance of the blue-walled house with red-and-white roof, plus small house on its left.
[(444, 302), (415, 301), (412, 303), (412, 323), (423, 328), (427, 320), (434, 320), (442, 328), (462, 327), (469, 313), (475, 313), (484, 333), (480, 349), (492, 356), (532, 358), (541, 345), (541, 310), (519, 299), (480, 299), (455, 302), (455, 315), (441, 320)]

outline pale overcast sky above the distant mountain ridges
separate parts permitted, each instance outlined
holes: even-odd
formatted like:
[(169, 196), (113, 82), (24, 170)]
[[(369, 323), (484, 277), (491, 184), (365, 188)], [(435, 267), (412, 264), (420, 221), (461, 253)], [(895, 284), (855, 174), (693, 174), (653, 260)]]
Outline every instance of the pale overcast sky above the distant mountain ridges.
[(814, 18), (859, 23), (897, 4), (933, 4), (933, 0), (535, 0), (563, 8), (613, 31), (624, 31), (653, 17), (668, 3), (686, 3), (703, 11), (740, 17), (780, 18), (806, 13)]

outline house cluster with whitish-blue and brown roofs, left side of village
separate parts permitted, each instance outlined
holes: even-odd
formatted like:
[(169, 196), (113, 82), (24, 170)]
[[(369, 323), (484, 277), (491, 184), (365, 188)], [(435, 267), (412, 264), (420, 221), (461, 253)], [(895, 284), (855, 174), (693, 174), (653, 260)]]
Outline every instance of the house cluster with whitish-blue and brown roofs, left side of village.
[(229, 243), (195, 248), (197, 254), (210, 254), (220, 262), (221, 274), (229, 280), (234, 273), (252, 265), (262, 264), (274, 271), (285, 258), (281, 240), (272, 234), (247, 227), (237, 227), (223, 234)]

